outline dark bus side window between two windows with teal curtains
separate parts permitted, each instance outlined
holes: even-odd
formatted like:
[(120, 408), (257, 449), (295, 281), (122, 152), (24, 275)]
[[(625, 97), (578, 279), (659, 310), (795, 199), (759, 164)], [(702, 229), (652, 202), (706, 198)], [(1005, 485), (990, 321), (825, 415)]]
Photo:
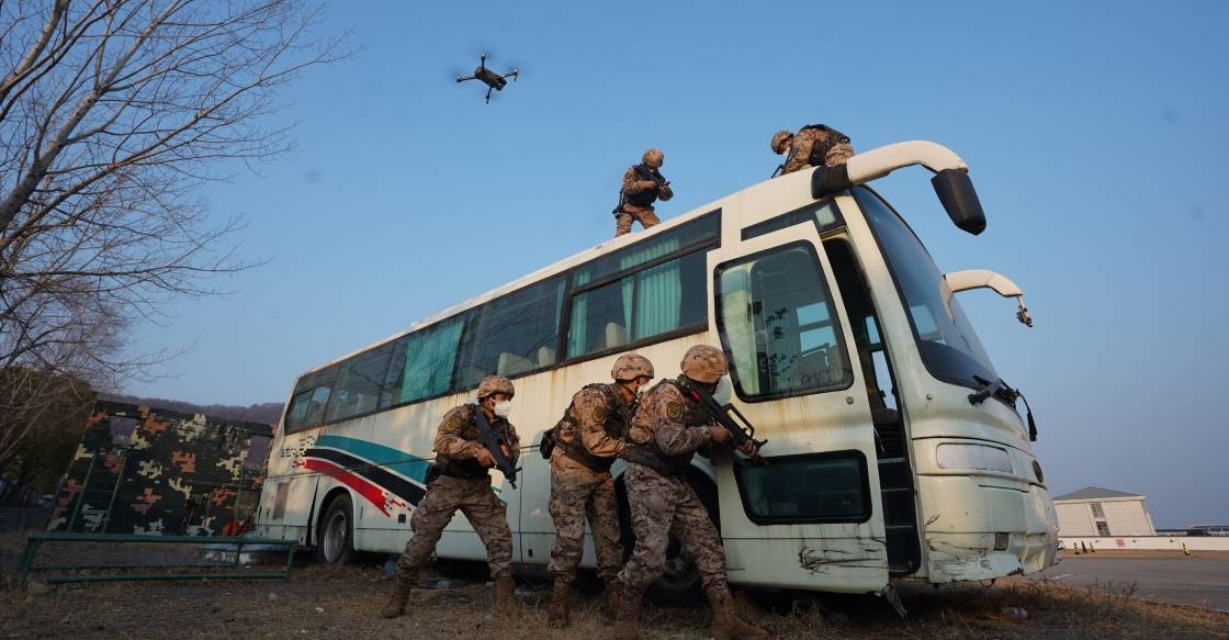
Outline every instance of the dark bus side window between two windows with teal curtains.
[(564, 278), (552, 278), (483, 307), (466, 333), (457, 384), (477, 386), (483, 376), (515, 376), (556, 361)]

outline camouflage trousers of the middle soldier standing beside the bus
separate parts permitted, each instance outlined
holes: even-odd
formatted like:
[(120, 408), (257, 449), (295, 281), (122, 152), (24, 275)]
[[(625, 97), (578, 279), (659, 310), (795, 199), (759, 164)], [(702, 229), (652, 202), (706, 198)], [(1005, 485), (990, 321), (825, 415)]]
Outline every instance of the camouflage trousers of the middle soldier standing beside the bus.
[(595, 473), (556, 448), (551, 456), (549, 511), (554, 518), (551, 574), (567, 582), (576, 577), (587, 516), (597, 555), (597, 576), (613, 580), (623, 566), (623, 545), (619, 544), (618, 502), (611, 474)]

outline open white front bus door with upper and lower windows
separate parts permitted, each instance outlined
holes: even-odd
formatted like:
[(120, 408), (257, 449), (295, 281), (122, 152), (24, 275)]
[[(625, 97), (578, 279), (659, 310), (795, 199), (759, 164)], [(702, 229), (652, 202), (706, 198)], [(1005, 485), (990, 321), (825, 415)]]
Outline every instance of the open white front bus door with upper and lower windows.
[(708, 268), (732, 403), (768, 440), (762, 464), (717, 466), (730, 579), (879, 591), (889, 565), (871, 407), (817, 227), (723, 243)]

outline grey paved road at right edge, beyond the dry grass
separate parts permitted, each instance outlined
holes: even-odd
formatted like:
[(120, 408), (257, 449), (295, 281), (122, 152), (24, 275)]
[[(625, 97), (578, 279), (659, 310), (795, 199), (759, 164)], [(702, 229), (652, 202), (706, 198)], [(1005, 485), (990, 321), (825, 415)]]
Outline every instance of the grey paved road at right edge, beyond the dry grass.
[(1127, 559), (1063, 558), (1058, 566), (1032, 576), (1069, 585), (1121, 588), (1158, 602), (1195, 604), (1229, 612), (1229, 560), (1201, 558)]

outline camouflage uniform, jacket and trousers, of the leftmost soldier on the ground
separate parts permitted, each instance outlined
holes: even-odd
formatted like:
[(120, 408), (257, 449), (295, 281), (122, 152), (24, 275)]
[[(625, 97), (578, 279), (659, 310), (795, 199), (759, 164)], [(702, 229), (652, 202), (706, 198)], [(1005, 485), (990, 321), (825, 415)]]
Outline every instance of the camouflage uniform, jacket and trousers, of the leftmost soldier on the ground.
[[(426, 486), (426, 495), (418, 502), (409, 526), (414, 537), (406, 543), (406, 552), (397, 559), (397, 577), (406, 582), (418, 579), (420, 568), (435, 550), (444, 527), (460, 509), (487, 547), (487, 563), (492, 580), (512, 576), (512, 533), (508, 527), (508, 507), (490, 489), (488, 469), (476, 459), (483, 446), (478, 442), (476, 404), (455, 407), (444, 414), (435, 435), (435, 463), (441, 474)], [(490, 427), (508, 442), (509, 459), (520, 457), (520, 437), (508, 420), (488, 415)]]

